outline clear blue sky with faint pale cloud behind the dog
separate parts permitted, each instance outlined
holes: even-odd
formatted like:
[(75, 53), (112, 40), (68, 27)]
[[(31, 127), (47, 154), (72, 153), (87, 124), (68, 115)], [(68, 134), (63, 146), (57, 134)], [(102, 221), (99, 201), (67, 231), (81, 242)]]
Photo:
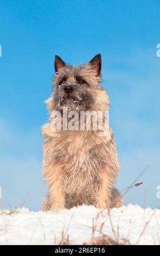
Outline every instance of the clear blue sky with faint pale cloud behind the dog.
[[(1, 1), (0, 186), (3, 205), (41, 209), (40, 127), (48, 113), (54, 56), (76, 65), (103, 59), (103, 86), (120, 160), (117, 187), (138, 181), (125, 203), (160, 206), (160, 3), (132, 1)], [(146, 196), (145, 196), (146, 195)], [(146, 202), (145, 202), (146, 201)]]

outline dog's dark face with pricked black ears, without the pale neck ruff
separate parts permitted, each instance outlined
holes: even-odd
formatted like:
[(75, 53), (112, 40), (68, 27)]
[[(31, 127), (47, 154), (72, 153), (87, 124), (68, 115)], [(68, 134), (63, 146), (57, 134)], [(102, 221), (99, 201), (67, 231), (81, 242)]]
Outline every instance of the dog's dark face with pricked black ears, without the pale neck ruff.
[(63, 60), (55, 57), (54, 78), (55, 90), (53, 93), (54, 108), (62, 111), (67, 107), (68, 111), (92, 110), (94, 104), (94, 86), (97, 77), (100, 77), (101, 57), (95, 56), (89, 65), (66, 65)]

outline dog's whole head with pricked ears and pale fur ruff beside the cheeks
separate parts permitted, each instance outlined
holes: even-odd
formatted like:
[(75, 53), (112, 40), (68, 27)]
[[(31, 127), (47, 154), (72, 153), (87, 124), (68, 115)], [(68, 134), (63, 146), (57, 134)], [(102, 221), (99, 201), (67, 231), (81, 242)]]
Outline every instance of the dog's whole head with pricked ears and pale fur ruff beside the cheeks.
[(50, 112), (107, 110), (107, 92), (100, 86), (101, 55), (97, 54), (90, 62), (79, 66), (67, 65), (55, 56), (54, 90), (47, 100)]

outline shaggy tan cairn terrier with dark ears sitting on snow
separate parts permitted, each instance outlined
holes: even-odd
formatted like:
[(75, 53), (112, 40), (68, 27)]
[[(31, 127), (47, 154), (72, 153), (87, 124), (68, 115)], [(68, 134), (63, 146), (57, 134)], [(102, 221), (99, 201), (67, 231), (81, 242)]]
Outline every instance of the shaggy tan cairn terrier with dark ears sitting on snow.
[[(46, 101), (49, 113), (108, 111), (110, 103), (101, 87), (101, 55), (90, 62), (71, 66), (55, 56), (54, 90)], [(58, 211), (74, 206), (94, 205), (109, 209), (123, 205), (114, 187), (119, 172), (116, 143), (111, 127), (107, 136), (99, 130), (56, 130), (51, 119), (42, 127), (43, 178), (48, 193), (43, 210)]]

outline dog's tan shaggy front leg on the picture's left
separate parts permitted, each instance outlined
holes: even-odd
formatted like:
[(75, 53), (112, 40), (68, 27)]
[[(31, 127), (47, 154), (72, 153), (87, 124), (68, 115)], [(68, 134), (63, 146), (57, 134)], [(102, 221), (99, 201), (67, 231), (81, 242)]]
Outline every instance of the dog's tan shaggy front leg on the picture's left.
[(43, 210), (57, 212), (65, 208), (65, 199), (62, 191), (62, 168), (60, 164), (43, 167), (43, 175), (49, 186), (49, 193), (43, 199)]

